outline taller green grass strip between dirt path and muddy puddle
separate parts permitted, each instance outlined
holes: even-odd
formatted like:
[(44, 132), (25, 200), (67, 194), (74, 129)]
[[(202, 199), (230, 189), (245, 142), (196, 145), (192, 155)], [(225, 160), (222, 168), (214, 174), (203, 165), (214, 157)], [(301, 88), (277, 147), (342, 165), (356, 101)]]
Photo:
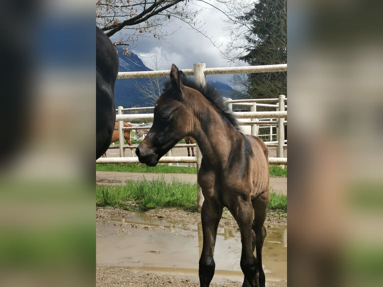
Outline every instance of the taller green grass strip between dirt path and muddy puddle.
[[(129, 181), (126, 185), (96, 185), (96, 205), (112, 206), (128, 210), (147, 210), (155, 207), (181, 207), (196, 211), (196, 183), (183, 183), (163, 178), (153, 181)], [(268, 204), (270, 211), (287, 212), (287, 196), (271, 190)]]

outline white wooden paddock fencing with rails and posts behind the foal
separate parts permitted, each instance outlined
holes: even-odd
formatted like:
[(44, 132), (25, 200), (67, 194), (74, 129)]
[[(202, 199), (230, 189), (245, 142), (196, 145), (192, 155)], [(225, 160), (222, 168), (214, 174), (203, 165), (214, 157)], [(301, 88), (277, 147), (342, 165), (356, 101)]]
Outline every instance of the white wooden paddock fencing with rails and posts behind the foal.
[[(258, 73), (258, 72), (281, 72), (287, 71), (287, 64), (274, 65), (258, 65), (244, 67), (219, 67), (205, 68), (205, 63), (194, 63), (192, 69), (182, 69), (185, 75), (194, 75), (194, 81), (199, 84), (206, 84), (205, 76), (210, 74), (233, 74), (233, 73)], [(146, 78), (146, 77), (167, 77), (170, 70), (159, 71), (137, 71), (137, 72), (119, 72), (117, 79), (121, 78)], [(287, 124), (287, 98), (285, 95), (279, 95), (278, 98), (266, 99), (226, 99), (226, 103), (230, 110), (233, 111), (239, 124), (243, 128), (244, 133), (260, 136), (267, 146), (276, 147), (276, 157), (269, 157), (269, 164), (278, 164), (281, 168), (287, 164), (287, 157), (284, 156), (284, 149), (287, 147), (287, 140), (284, 134), (284, 125)], [(241, 105), (248, 106), (249, 111), (235, 111), (233, 106)], [(257, 106), (268, 107), (270, 111), (257, 111)], [(152, 121), (153, 113), (134, 113), (142, 110), (152, 110), (154, 107), (134, 107), (123, 108), (118, 106), (116, 113), (116, 122), (118, 122), (119, 143), (123, 143), (124, 129), (147, 129), (147, 126), (134, 124), (132, 127), (123, 127), (123, 121), (136, 122), (140, 120)], [(247, 127), (247, 130), (246, 130)], [(259, 129), (268, 129), (268, 133), (260, 135)], [(275, 133), (274, 133), (275, 130)], [(276, 140), (272, 140), (273, 136)], [(267, 140), (268, 139), (268, 140)], [(172, 156), (171, 150), (159, 159), (159, 163), (196, 163), (197, 169), (200, 166), (202, 159), (198, 144), (176, 144), (173, 148), (179, 147), (194, 147), (195, 156)], [(100, 157), (96, 160), (97, 164), (103, 163), (139, 163), (138, 157), (134, 156), (133, 151), (137, 144), (126, 145), (118, 144), (111, 145), (109, 148), (118, 148), (118, 157)], [(130, 149), (132, 156), (125, 156), (124, 149)], [(197, 190), (197, 207), (200, 210), (203, 202), (203, 195), (200, 192), (200, 187)]]

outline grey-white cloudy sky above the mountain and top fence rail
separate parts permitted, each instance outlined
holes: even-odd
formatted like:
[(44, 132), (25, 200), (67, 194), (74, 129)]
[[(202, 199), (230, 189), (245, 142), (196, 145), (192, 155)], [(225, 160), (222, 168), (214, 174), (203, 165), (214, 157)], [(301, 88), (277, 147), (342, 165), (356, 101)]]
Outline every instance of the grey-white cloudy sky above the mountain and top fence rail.
[[(216, 0), (207, 0), (209, 3), (222, 7)], [(192, 2), (190, 2), (191, 4)], [(200, 3), (199, 3), (200, 4)], [(178, 19), (173, 19), (165, 29), (168, 31), (176, 30), (173, 34), (166, 37), (165, 40), (158, 40), (154, 37), (141, 37), (136, 45), (131, 47), (131, 51), (138, 54), (144, 64), (151, 69), (155, 69), (152, 55), (156, 55), (158, 69), (170, 69), (172, 63), (180, 69), (192, 68), (195, 62), (204, 62), (206, 67), (222, 67), (229, 65), (238, 65), (228, 63), (223, 58), (219, 50), (224, 51), (228, 41), (228, 31), (224, 29), (227, 25), (223, 19), (226, 17), (217, 9), (204, 4), (206, 9), (197, 15), (197, 19), (205, 23), (202, 30), (211, 37), (211, 41), (202, 34), (191, 29), (188, 25)], [(240, 65), (247, 65), (242, 62)], [(227, 79), (227, 75), (209, 77), (211, 80)]]

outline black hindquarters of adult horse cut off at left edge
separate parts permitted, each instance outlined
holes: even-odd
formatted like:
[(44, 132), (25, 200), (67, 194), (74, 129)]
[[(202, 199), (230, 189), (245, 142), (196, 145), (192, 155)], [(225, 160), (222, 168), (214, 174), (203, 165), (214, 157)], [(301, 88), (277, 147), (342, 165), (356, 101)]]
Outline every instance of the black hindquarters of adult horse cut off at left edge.
[(96, 159), (109, 147), (113, 133), (117, 73), (117, 52), (109, 38), (96, 27)]

